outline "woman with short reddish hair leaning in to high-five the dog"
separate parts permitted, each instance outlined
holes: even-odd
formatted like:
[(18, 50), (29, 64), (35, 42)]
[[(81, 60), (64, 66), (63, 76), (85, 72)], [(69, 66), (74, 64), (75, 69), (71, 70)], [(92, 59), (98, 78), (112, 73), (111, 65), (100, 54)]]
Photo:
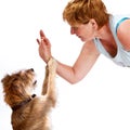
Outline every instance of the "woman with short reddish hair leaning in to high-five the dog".
[[(130, 15), (110, 15), (101, 0), (73, 0), (63, 12), (72, 35), (84, 42), (73, 66), (57, 61), (57, 74), (70, 83), (80, 81), (92, 68), (100, 53), (121, 66), (130, 66)], [(39, 54), (48, 63), (51, 43), (40, 30)]]

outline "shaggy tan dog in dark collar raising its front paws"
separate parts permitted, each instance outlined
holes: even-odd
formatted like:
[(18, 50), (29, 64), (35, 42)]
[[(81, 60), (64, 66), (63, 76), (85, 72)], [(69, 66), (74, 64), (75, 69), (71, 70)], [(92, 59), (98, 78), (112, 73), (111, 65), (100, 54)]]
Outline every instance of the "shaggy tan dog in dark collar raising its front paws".
[(51, 130), (49, 113), (56, 104), (55, 75), (56, 61), (50, 58), (40, 96), (31, 94), (37, 82), (32, 68), (3, 77), (4, 101), (12, 108), (13, 130)]

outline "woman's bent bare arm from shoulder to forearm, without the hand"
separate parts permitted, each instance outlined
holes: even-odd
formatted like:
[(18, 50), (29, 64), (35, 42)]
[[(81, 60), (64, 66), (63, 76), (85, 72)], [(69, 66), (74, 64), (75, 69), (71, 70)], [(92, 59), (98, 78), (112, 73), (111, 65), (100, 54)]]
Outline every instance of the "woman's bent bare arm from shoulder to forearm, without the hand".
[(67, 80), (69, 83), (76, 83), (80, 81), (89, 73), (94, 65), (100, 53), (95, 49), (94, 43), (87, 42), (83, 44), (82, 50), (74, 64), (74, 66), (67, 66), (57, 61), (57, 74)]

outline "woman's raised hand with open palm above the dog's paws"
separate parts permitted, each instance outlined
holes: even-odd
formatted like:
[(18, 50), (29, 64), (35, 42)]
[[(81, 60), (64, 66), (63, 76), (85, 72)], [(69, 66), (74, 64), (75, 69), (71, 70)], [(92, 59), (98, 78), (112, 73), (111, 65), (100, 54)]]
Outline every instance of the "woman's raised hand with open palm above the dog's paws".
[(40, 39), (37, 39), (39, 44), (39, 55), (40, 57), (48, 63), (49, 60), (52, 57), (51, 55), (51, 43), (49, 39), (46, 37), (44, 32), (40, 30)]

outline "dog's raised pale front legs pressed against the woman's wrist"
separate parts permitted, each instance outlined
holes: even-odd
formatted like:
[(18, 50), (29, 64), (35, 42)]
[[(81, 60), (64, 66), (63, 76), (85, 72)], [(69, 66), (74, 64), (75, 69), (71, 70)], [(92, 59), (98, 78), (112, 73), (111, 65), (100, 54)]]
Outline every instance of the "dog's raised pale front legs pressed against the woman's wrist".
[(55, 92), (55, 76), (56, 76), (56, 61), (50, 58), (46, 66), (46, 77), (43, 81), (42, 94), (47, 96), (49, 102), (52, 102), (52, 106), (56, 103), (56, 92)]

